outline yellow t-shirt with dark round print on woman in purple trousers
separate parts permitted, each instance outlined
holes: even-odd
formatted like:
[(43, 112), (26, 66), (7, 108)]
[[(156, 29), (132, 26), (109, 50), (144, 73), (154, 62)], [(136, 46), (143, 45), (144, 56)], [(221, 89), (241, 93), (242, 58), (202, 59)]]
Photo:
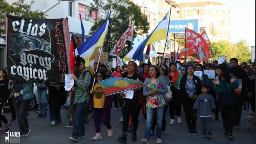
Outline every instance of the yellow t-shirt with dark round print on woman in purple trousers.
[(93, 107), (103, 108), (104, 103), (105, 103), (105, 94), (102, 87), (97, 82), (93, 88)]

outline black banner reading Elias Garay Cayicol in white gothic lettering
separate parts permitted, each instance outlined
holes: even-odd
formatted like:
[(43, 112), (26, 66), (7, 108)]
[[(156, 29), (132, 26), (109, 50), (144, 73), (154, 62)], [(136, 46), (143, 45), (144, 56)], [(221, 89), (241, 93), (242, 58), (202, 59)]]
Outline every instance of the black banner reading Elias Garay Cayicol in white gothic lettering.
[(64, 84), (70, 74), (68, 21), (6, 16), (9, 78), (34, 83)]

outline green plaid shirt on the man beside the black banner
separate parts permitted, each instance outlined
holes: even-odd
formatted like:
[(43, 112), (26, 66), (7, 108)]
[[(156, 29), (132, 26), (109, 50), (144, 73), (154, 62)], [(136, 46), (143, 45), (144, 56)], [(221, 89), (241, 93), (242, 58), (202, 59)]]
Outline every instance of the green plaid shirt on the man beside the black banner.
[[(84, 69), (85, 71), (85, 69)], [(79, 104), (84, 101), (89, 103), (89, 93), (87, 91), (88, 86), (90, 85), (91, 76), (90, 73), (87, 72), (83, 79), (83, 73), (79, 76), (79, 78), (75, 81), (76, 83), (76, 92), (73, 104)]]

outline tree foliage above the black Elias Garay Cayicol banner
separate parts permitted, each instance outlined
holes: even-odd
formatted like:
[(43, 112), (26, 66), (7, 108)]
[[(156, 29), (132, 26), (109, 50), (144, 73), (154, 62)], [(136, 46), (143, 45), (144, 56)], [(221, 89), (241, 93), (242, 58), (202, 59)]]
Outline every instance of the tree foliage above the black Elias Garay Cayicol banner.
[(33, 12), (31, 10), (31, 5), (34, 1), (30, 3), (25, 3), (25, 0), (18, 0), (12, 4), (6, 2), (6, 0), (0, 0), (0, 38), (5, 40), (5, 12), (7, 14), (19, 16), (19, 17), (29, 17), (29, 18), (45, 18), (43, 12)]

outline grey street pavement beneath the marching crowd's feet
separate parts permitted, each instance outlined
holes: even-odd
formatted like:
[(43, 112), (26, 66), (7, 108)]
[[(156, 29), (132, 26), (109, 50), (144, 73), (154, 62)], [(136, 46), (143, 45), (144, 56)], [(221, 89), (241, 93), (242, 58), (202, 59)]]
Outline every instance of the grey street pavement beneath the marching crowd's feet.
[[(242, 111), (241, 117), (241, 128), (233, 129), (233, 141), (229, 141), (227, 138), (223, 138), (224, 129), (221, 128), (222, 121), (219, 113), (219, 121), (215, 121), (212, 118), (212, 139), (208, 140), (206, 138), (201, 138), (201, 125), (200, 120), (197, 118), (197, 131), (198, 135), (187, 135), (187, 126), (184, 116), (184, 111), (181, 112), (182, 124), (177, 124), (177, 117), (175, 115), (176, 124), (169, 125), (170, 116), (169, 113), (166, 114), (166, 131), (162, 135), (163, 144), (255, 144), (255, 132), (251, 132), (247, 129), (247, 124), (245, 118), (248, 110)], [(11, 113), (6, 112), (6, 118), (11, 119)], [(20, 144), (122, 144), (116, 139), (121, 135), (122, 123), (119, 119), (122, 117), (121, 111), (114, 111), (112, 108), (111, 112), (111, 124), (113, 126), (113, 136), (108, 137), (107, 128), (104, 124), (101, 124), (102, 140), (93, 140), (95, 135), (92, 114), (89, 114), (90, 122), (89, 124), (84, 124), (85, 126), (85, 138), (79, 139), (78, 142), (73, 142), (69, 140), (73, 128), (66, 128), (66, 123), (69, 119), (66, 118), (67, 111), (61, 108), (61, 124), (54, 127), (50, 125), (49, 115), (47, 113), (47, 118), (37, 118), (38, 113), (34, 111), (29, 111), (29, 127), (30, 134), (27, 137), (20, 137)], [(3, 124), (3, 123), (2, 123)], [(18, 123), (12, 124), (10, 132), (17, 132), (19, 130)], [(140, 140), (143, 138), (145, 131), (145, 121), (143, 121), (143, 116), (140, 113), (139, 116), (139, 127), (137, 131), (137, 141), (131, 142), (131, 133), (128, 133), (127, 144), (141, 144)], [(6, 133), (0, 135), (0, 144), (5, 144)], [(156, 136), (152, 135), (150, 138), (150, 144), (156, 144)]]

